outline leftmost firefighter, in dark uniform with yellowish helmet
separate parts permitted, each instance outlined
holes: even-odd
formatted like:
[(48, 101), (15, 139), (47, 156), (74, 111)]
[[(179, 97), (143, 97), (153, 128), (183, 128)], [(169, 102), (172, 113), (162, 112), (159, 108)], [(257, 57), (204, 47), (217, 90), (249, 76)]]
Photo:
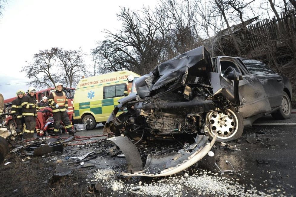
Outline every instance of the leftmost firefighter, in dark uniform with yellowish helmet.
[(22, 135), (23, 135), (24, 123), (25, 123), (24, 118), (22, 116), (23, 109), (22, 109), (21, 103), (22, 103), (22, 99), (24, 98), (25, 91), (20, 89), (20, 90), (16, 91), (16, 95), (18, 97), (12, 101), (11, 113), (18, 115), (15, 119), (17, 129), (20, 130), (20, 132), (17, 135), (17, 140), (21, 140)]

